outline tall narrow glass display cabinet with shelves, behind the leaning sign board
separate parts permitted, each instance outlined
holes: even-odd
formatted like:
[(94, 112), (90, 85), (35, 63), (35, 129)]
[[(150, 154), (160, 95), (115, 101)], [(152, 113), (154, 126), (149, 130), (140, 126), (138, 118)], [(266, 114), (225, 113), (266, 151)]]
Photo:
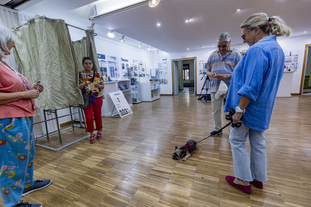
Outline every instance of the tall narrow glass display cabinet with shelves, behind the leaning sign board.
[(128, 67), (128, 79), (131, 84), (132, 103), (142, 102), (138, 67)]

